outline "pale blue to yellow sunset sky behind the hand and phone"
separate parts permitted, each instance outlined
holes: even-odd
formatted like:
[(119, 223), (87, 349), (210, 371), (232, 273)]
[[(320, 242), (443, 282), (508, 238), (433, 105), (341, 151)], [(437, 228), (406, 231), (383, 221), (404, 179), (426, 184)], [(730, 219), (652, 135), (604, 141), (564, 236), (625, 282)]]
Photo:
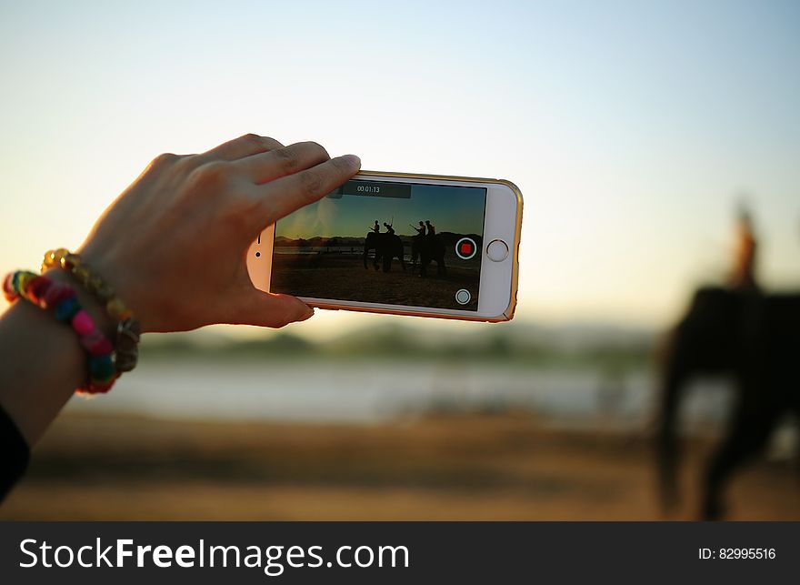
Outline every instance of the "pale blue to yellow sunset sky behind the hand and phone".
[(798, 31), (776, 0), (5, 3), (0, 269), (77, 247), (158, 153), (255, 132), (515, 182), (521, 319), (665, 325), (740, 200), (800, 288)]

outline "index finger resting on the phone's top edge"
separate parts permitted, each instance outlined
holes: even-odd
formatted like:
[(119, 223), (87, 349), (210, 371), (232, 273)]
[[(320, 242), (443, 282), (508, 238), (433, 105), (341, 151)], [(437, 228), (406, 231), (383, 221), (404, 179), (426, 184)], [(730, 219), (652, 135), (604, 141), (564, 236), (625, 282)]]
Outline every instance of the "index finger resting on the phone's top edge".
[(355, 155), (336, 156), (304, 171), (277, 178), (258, 187), (267, 224), (314, 203), (353, 177), (361, 168)]

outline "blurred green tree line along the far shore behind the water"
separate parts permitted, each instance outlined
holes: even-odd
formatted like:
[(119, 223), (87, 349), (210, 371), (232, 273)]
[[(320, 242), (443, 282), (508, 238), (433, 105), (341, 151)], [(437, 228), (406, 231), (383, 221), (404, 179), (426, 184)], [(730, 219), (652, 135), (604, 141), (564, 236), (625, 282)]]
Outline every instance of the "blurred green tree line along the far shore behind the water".
[(336, 360), (445, 360), (507, 362), (560, 368), (631, 370), (653, 361), (655, 336), (646, 333), (609, 335), (534, 327), (492, 326), (480, 335), (432, 335), (428, 330), (398, 325), (355, 330), (329, 341), (315, 342), (290, 332), (263, 338), (214, 338), (203, 332), (145, 336), (143, 359), (269, 360), (327, 358)]

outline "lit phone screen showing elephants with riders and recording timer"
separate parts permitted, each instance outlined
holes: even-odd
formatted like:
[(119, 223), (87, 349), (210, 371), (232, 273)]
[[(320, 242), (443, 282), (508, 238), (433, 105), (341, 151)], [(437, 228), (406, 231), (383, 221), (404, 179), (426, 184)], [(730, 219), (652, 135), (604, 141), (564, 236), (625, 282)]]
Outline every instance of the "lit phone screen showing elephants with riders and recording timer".
[(476, 311), (486, 189), (354, 179), (275, 224), (270, 290)]

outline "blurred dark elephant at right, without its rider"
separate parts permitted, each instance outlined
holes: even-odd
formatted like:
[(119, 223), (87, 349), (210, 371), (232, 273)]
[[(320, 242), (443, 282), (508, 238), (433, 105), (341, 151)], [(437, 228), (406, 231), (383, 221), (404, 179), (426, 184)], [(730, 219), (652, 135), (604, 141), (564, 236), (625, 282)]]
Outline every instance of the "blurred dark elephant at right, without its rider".
[(735, 411), (705, 471), (700, 510), (704, 519), (719, 519), (725, 480), (765, 449), (786, 412), (800, 416), (800, 294), (702, 288), (665, 349), (657, 431), (665, 508), (677, 500), (675, 428), (682, 389), (698, 375), (735, 380)]

